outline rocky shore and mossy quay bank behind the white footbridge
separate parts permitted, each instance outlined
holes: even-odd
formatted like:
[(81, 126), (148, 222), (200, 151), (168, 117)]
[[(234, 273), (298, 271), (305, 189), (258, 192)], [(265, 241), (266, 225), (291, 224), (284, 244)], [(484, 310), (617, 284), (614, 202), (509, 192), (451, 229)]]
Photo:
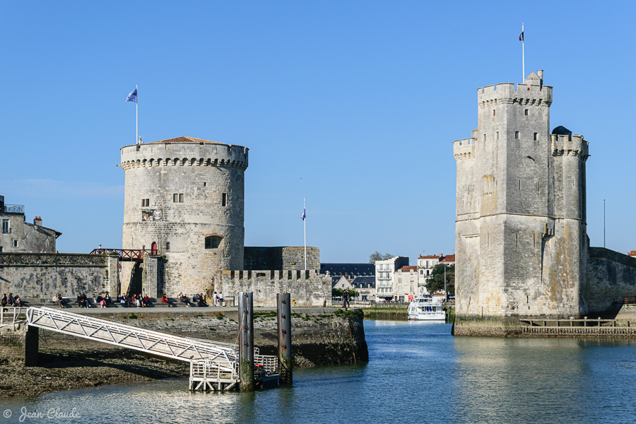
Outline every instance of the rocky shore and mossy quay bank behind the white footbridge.
[[(181, 336), (234, 342), (236, 319), (231, 312), (114, 312), (108, 318)], [(311, 310), (293, 312), (295, 367), (334, 365), (368, 360), (362, 312)], [(275, 313), (255, 314), (255, 345), (263, 354), (276, 351)], [(21, 333), (23, 334), (23, 332)], [(0, 399), (52, 391), (99, 387), (165, 378), (187, 378), (189, 363), (119, 348), (84, 338), (40, 330), (37, 367), (25, 367), (20, 331), (0, 334)], [(16, 338), (18, 337), (18, 338)]]

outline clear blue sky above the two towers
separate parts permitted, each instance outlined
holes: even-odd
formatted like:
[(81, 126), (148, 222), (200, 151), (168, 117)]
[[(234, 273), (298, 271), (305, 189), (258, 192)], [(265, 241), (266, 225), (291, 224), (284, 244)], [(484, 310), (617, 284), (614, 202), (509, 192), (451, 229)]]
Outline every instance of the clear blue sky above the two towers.
[(550, 126), (590, 142), (588, 232), (636, 249), (632, 1), (3, 1), (0, 194), (64, 234), (122, 244), (119, 148), (249, 147), (245, 244), (326, 262), (454, 252), (452, 141), (476, 89), (544, 69)]

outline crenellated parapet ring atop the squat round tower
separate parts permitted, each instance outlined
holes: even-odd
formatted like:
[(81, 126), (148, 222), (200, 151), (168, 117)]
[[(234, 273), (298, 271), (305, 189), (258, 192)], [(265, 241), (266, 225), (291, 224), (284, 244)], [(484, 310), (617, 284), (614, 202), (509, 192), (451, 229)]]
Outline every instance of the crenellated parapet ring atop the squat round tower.
[(244, 146), (201, 141), (158, 142), (122, 147), (121, 167), (210, 166), (246, 170), (248, 151)]

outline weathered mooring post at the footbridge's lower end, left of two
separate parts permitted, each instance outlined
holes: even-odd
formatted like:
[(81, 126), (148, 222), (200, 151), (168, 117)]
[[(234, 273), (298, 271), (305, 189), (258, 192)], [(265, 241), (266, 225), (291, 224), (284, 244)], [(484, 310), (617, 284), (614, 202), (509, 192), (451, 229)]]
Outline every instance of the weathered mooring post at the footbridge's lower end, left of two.
[(239, 292), (241, 391), (254, 391), (254, 302), (252, 292)]

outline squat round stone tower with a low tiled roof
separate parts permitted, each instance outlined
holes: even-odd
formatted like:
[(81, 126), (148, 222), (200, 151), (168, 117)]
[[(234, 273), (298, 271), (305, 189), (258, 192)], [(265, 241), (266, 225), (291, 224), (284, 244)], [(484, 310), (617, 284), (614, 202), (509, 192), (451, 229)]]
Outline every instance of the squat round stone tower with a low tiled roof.
[(201, 293), (242, 269), (246, 147), (179, 137), (121, 151), (122, 246), (165, 257), (158, 295)]

